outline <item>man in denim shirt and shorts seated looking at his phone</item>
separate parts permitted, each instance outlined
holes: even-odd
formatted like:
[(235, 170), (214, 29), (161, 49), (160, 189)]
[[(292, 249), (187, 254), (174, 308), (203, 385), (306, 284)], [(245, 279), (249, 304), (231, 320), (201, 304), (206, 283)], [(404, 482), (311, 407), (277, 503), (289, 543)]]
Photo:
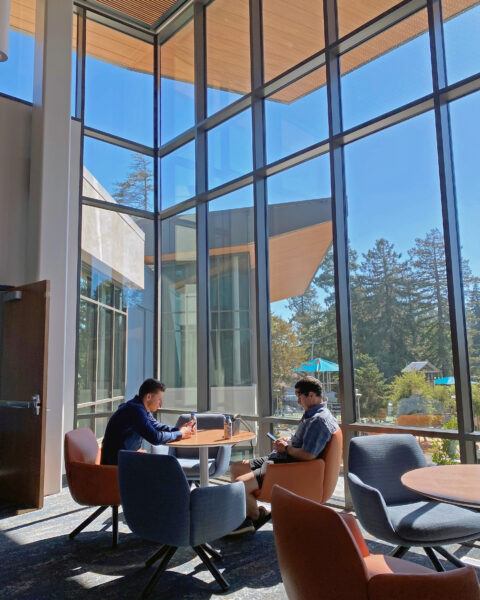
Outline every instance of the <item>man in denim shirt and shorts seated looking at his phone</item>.
[(320, 458), (338, 423), (322, 401), (322, 386), (315, 377), (304, 377), (295, 384), (297, 402), (305, 411), (297, 430), (290, 439), (279, 438), (268, 456), (244, 460), (230, 465), (232, 480), (242, 481), (247, 499), (247, 518), (232, 534), (245, 533), (261, 527), (269, 513), (257, 506), (255, 492), (262, 487), (268, 462), (295, 462)]

